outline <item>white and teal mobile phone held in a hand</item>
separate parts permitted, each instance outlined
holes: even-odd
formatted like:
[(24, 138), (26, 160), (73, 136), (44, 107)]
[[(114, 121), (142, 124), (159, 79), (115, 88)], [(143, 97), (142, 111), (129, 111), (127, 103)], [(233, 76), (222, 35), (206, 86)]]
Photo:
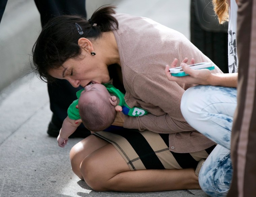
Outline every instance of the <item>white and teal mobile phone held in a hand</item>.
[[(214, 70), (214, 65), (212, 65), (211, 62), (202, 62), (202, 63), (198, 63), (198, 64), (191, 64), (191, 65), (188, 65), (190, 68), (196, 70), (196, 69), (203, 69), (203, 68), (206, 68), (208, 70)], [(175, 76), (175, 77), (183, 77), (183, 76), (186, 76), (186, 75), (189, 75), (187, 73), (185, 73), (182, 69), (182, 67), (176, 67), (176, 68), (170, 68), (170, 73), (172, 76)]]

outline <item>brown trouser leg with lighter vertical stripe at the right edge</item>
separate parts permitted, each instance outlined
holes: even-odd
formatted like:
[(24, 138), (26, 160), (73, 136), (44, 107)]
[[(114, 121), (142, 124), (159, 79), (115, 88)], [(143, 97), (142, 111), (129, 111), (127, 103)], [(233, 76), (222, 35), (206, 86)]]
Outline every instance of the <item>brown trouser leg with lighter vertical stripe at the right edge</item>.
[(233, 179), (228, 197), (256, 196), (256, 0), (239, 0), (237, 109), (231, 134)]

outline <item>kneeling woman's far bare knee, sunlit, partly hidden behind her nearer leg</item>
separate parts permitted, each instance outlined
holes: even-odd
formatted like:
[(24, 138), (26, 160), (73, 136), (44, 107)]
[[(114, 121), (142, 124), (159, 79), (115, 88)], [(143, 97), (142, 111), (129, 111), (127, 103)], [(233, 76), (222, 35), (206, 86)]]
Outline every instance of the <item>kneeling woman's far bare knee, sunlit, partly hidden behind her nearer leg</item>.
[(101, 140), (99, 137), (89, 135), (81, 142), (78, 142), (70, 150), (70, 163), (73, 172), (82, 180), (84, 180), (81, 171), (80, 164), (83, 159), (94, 152), (95, 150), (109, 144), (108, 142)]

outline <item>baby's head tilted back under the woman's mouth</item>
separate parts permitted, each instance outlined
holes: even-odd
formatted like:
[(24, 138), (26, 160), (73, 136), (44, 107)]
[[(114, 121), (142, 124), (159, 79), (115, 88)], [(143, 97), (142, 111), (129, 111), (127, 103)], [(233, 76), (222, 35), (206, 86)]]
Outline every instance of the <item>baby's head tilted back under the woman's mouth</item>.
[(91, 131), (102, 131), (115, 121), (116, 105), (116, 97), (99, 83), (87, 85), (78, 100), (82, 122)]

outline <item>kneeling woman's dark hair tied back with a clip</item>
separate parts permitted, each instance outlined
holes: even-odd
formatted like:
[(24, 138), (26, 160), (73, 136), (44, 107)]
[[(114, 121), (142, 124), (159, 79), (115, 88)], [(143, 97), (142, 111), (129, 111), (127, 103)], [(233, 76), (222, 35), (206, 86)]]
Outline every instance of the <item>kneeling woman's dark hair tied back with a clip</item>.
[(32, 48), (33, 71), (42, 81), (54, 81), (48, 74), (49, 70), (57, 69), (69, 58), (81, 54), (77, 43), (79, 38), (97, 39), (102, 32), (118, 29), (118, 21), (113, 16), (116, 13), (115, 8), (101, 6), (92, 14), (90, 20), (77, 15), (52, 18), (42, 28)]

